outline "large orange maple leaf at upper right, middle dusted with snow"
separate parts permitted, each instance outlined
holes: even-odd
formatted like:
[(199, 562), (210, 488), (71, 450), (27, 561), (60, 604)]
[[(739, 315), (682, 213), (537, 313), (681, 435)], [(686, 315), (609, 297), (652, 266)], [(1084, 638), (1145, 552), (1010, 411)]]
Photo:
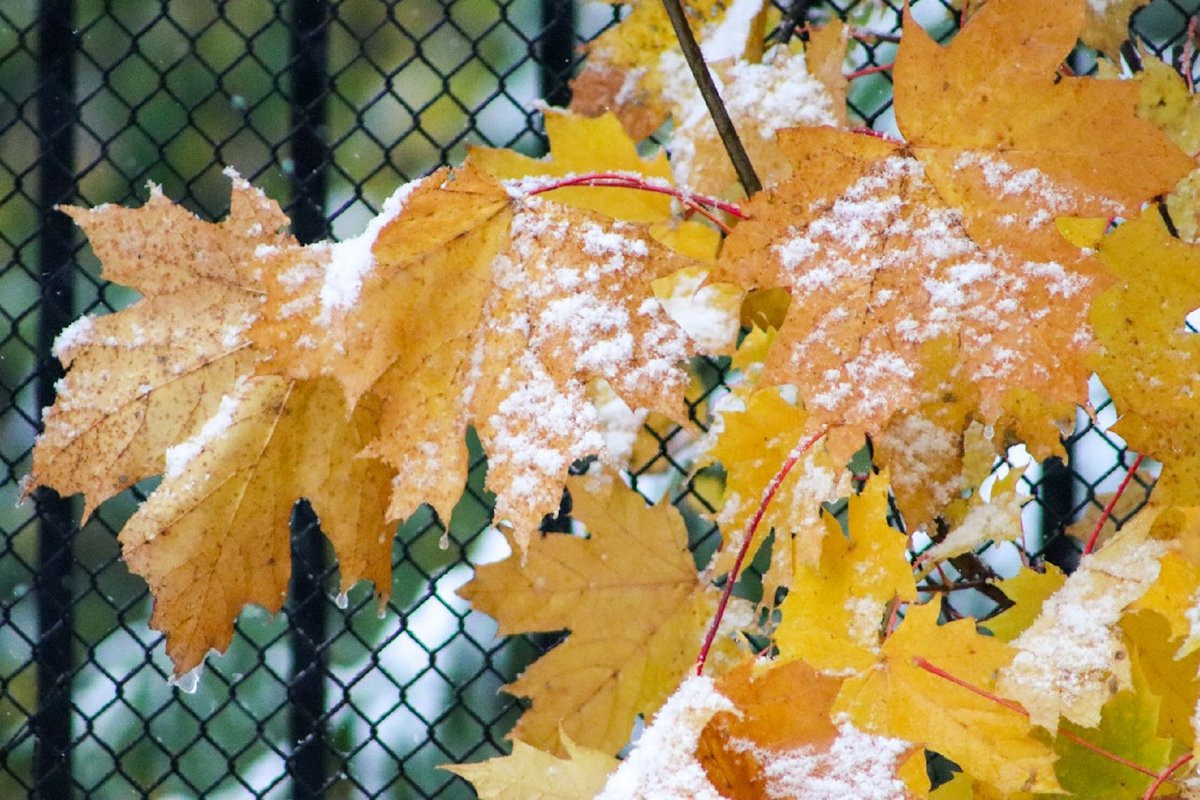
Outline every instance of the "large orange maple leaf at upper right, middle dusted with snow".
[[(1135, 86), (1058, 80), (1081, 7), (994, 0), (946, 48), (906, 17), (906, 145), (780, 133), (793, 176), (751, 200), (714, 277), (792, 293), (763, 380), (800, 389), (812, 425), (834, 428), (835, 458), (865, 433), (902, 432), (913, 409), (936, 435), (904, 464), (940, 459), (944, 481), (971, 420), (1003, 421), (1006, 444), (1057, 449), (1091, 372), (1076, 320), (1105, 277), (1051, 222), (1132, 213), (1190, 166), (1134, 115)], [(901, 507), (917, 525), (930, 515)]]

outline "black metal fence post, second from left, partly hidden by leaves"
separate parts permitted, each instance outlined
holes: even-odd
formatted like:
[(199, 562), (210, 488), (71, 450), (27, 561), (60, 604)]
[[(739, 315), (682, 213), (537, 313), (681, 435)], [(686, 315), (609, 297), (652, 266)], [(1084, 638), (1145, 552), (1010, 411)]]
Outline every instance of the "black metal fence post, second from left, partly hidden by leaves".
[[(330, 161), (328, 52), (330, 7), (325, 0), (292, 2), (292, 231), (301, 242), (329, 236), (325, 194)], [(292, 796), (322, 796), (329, 780), (325, 746), (324, 537), (307, 504), (292, 518), (292, 676), (288, 685), (288, 757)]]

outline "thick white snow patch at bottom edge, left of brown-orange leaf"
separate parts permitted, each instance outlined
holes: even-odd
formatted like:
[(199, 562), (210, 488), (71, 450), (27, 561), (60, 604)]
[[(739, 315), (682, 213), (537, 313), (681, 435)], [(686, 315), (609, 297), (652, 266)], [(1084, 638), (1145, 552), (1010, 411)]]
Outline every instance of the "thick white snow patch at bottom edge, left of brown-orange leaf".
[(708, 721), (733, 710), (710, 678), (688, 678), (654, 715), (596, 800), (720, 800), (695, 750)]

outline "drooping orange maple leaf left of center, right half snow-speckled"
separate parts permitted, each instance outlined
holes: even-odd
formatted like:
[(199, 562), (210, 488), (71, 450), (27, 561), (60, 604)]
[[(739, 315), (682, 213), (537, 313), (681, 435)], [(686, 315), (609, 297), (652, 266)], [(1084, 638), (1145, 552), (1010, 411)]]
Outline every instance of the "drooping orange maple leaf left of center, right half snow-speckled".
[(496, 519), (524, 547), (558, 509), (570, 464), (605, 455), (589, 381), (685, 419), (678, 365), (691, 344), (649, 284), (688, 261), (644, 228), (511, 198), (470, 167), (407, 187), (395, 205), (359, 245), (368, 254), (277, 273), (250, 335), (272, 353), (264, 369), (331, 375), (352, 405), (379, 398), (367, 452), (398, 471), (389, 518), (422, 503), (449, 518), (473, 422)]

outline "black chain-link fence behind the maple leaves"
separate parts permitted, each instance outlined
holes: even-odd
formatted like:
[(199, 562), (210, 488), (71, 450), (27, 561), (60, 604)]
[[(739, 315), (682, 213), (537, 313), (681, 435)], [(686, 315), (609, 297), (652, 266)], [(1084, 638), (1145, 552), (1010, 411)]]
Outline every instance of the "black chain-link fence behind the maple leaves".
[[(954, 8), (917, 7), (935, 32), (953, 32)], [(788, 35), (791, 23), (830, 14), (875, 31), (856, 42), (847, 71), (893, 59), (898, 0), (785, 10)], [(1190, 68), (1194, 11), (1156, 0), (1135, 17), (1134, 38)], [(569, 98), (578, 46), (619, 13), (572, 0), (0, 4), (0, 796), (470, 795), (436, 766), (504, 752), (521, 704), (499, 688), (557, 640), (497, 640), (494, 624), (454, 594), (500, 547), (478, 445), (446, 521), (450, 546), (427, 511), (400, 528), (385, 614), (365, 588), (335, 596), (336, 565), (301, 504), (284, 613), (246, 610), (194, 692), (170, 686), (145, 587), (115, 540), (152, 483), (82, 528), (77, 500), (37, 491), (18, 504), (40, 409), (61, 375), (54, 337), (132, 297), (98, 279), (54, 206), (139, 204), (154, 181), (220, 218), (228, 164), (283, 203), (299, 239), (354, 234), (395, 186), (458, 161), (468, 143), (542, 152), (534, 101)], [(1076, 71), (1093, 66), (1086, 50), (1075, 59)], [(886, 71), (854, 80), (857, 122), (893, 125), (888, 82)], [(703, 422), (721, 371), (696, 368), (709, 387), (692, 398)], [(1078, 546), (1063, 525), (1128, 467), (1103, 431), (1112, 415), (1103, 390), (1093, 399), (1068, 439), (1069, 463), (1027, 473), (1032, 557), (1069, 564)], [(634, 483), (696, 509), (713, 498), (697, 488), (685, 438), (648, 429)], [(710, 549), (710, 525), (692, 528)]]

